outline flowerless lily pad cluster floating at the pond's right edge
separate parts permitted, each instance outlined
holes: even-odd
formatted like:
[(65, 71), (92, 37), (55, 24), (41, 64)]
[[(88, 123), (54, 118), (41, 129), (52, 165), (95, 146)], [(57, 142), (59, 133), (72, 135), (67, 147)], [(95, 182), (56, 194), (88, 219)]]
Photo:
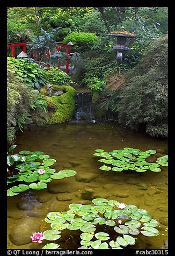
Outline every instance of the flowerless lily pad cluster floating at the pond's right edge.
[[(140, 151), (138, 148), (125, 147), (123, 150), (113, 150), (105, 152), (104, 150), (96, 150), (94, 155), (101, 157), (99, 162), (103, 162), (101, 170), (113, 170), (114, 172), (122, 172), (122, 170), (135, 170), (135, 172), (161, 172), (159, 166), (168, 166), (168, 156), (164, 155), (156, 160), (146, 160), (150, 155), (156, 154), (156, 150)], [(107, 165), (106, 165), (107, 164)], [(111, 165), (111, 166), (108, 166)]]

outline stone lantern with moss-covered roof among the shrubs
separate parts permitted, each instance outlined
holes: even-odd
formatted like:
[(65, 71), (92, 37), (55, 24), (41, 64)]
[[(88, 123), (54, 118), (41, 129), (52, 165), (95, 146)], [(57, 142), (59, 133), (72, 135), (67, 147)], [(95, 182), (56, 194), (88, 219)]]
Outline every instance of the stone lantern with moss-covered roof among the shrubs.
[[(136, 38), (136, 34), (127, 32), (125, 30), (125, 27), (121, 27), (120, 31), (113, 31), (108, 33), (110, 37), (116, 37), (116, 45), (113, 47), (113, 49), (117, 52), (116, 53), (116, 60), (118, 62), (122, 61), (123, 52), (129, 51), (131, 48), (130, 46), (133, 44)], [(127, 38), (130, 38), (129, 45), (126, 45)]]

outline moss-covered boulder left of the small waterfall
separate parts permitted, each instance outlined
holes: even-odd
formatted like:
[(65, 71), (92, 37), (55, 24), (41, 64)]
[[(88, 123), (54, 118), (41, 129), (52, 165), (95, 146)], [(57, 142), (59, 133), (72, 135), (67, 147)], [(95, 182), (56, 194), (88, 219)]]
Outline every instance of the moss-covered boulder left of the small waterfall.
[(45, 115), (47, 124), (58, 124), (72, 119), (75, 111), (74, 88), (52, 84), (52, 90), (44, 86), (40, 93), (45, 95), (47, 102), (48, 112)]

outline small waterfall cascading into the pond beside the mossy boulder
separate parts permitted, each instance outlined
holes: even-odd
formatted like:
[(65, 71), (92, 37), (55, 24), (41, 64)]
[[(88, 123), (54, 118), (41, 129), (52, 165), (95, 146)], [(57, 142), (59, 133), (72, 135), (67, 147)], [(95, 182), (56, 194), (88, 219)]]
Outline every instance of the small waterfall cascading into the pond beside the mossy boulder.
[(92, 94), (91, 91), (77, 91), (75, 103), (75, 119), (76, 121), (88, 121), (95, 123), (91, 113)]

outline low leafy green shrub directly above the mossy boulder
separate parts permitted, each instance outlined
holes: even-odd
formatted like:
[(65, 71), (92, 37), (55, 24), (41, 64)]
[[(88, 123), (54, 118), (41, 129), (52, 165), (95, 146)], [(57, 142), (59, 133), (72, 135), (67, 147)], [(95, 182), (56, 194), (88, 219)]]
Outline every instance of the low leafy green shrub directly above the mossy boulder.
[(43, 72), (48, 83), (57, 84), (58, 86), (66, 86), (73, 84), (71, 77), (57, 67), (52, 67)]

